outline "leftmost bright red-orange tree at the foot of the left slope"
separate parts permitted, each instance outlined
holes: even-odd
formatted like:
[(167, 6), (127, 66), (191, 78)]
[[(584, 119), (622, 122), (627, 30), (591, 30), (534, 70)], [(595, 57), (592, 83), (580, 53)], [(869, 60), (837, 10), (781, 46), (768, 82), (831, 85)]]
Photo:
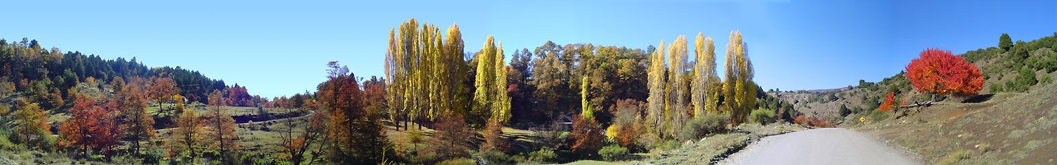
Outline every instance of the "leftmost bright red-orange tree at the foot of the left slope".
[(82, 93), (76, 93), (75, 97), (70, 109), (72, 117), (59, 126), (62, 139), (59, 145), (73, 147), (76, 154), (84, 151), (82, 155), (97, 149), (109, 152), (118, 140), (114, 117), (103, 106), (96, 106), (94, 98)]

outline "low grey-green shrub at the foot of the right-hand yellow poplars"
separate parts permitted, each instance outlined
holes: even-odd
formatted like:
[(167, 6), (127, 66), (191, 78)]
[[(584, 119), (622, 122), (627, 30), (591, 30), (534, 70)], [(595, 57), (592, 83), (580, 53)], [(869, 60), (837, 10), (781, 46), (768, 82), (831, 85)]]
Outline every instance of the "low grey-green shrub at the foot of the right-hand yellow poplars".
[[(772, 112), (771, 116), (774, 116), (774, 112)], [(726, 129), (726, 124), (729, 122), (730, 115), (707, 113), (700, 117), (690, 120), (690, 122), (679, 131), (679, 139), (683, 141), (696, 140), (709, 133), (716, 133)]]

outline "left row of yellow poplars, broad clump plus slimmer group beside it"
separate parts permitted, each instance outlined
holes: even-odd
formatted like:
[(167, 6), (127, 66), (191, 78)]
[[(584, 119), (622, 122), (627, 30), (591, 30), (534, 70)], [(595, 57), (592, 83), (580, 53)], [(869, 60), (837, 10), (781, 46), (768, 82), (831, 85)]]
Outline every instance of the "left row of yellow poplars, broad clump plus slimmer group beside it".
[[(511, 118), (511, 98), (506, 95), (502, 47), (488, 36), (477, 54), (477, 70), (462, 72), (469, 66), (463, 60), (458, 25), (452, 24), (442, 36), (433, 24), (419, 24), (412, 18), (390, 30), (385, 62), (390, 120), (403, 121), (405, 130), (409, 121), (434, 121), (448, 112), (506, 123)], [(466, 85), (470, 82), (466, 74), (477, 74), (472, 91)]]

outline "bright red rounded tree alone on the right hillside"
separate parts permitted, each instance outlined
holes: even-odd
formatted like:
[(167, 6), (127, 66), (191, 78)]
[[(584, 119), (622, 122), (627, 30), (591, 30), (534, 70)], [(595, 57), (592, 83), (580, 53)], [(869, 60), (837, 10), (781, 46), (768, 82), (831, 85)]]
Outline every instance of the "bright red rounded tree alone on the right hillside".
[(980, 68), (950, 51), (927, 49), (907, 65), (907, 78), (917, 92), (971, 95), (984, 86)]

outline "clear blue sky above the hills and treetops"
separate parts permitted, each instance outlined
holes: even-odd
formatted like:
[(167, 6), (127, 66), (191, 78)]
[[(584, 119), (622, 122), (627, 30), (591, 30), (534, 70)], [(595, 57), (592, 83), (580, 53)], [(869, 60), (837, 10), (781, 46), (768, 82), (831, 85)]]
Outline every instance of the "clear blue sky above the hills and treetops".
[[(389, 29), (408, 18), (458, 23), (466, 50), (487, 35), (505, 52), (591, 42), (642, 48), (699, 32), (719, 63), (741, 31), (764, 89), (828, 89), (877, 81), (926, 48), (963, 53), (1002, 33), (1030, 41), (1057, 32), (1057, 1), (8, 1), (0, 37), (148, 67), (181, 66), (252, 94), (314, 91), (326, 63), (383, 75)], [(692, 47), (691, 47), (692, 49)], [(690, 50), (692, 52), (692, 50)], [(508, 57), (508, 55), (507, 55)]]

